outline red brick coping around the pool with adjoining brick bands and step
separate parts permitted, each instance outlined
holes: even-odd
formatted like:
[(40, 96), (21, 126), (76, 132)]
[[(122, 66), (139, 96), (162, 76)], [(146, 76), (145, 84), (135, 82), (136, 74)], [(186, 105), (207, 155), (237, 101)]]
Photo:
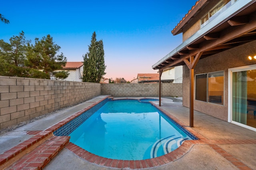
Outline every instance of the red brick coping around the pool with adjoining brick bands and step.
[[(6, 152), (0, 154), (0, 168), (3, 164), (8, 164), (8, 161), (11, 161), (14, 159), (15, 156), (18, 156), (23, 151), (29, 149), (36, 143), (39, 143), (42, 139), (47, 139), (44, 143), (40, 144), (36, 149), (32, 150), (30, 153), (26, 154), (26, 156), (23, 156), (19, 160), (15, 160), (16, 162), (14, 164), (11, 164), (8, 166), (8, 169), (17, 169), (21, 168), (22, 166), (34, 168), (34, 169), (41, 169), (44, 168), (52, 158), (54, 158), (58, 152), (60, 152), (61, 149), (64, 147), (70, 151), (72, 151), (74, 154), (79, 156), (80, 158), (91, 162), (93, 164), (98, 164), (99, 166), (106, 166), (111, 168), (130, 168), (130, 169), (138, 169), (138, 168), (151, 168), (156, 166), (162, 166), (165, 164), (168, 164), (170, 162), (173, 162), (174, 160), (177, 160), (178, 158), (181, 158), (186, 154), (187, 152), (192, 149), (194, 145), (209, 145), (212, 149), (214, 149), (218, 154), (226, 158), (229, 162), (234, 164), (237, 168), (241, 170), (248, 170), (250, 169), (248, 166), (246, 166), (244, 163), (240, 162), (238, 159), (236, 159), (234, 156), (223, 150), (218, 144), (256, 144), (256, 139), (248, 140), (248, 139), (222, 139), (222, 140), (209, 140), (200, 133), (194, 131), (191, 127), (184, 124), (182, 121), (174, 117), (173, 115), (166, 114), (166, 111), (162, 109), (161, 107), (158, 107), (153, 102), (150, 102), (153, 106), (155, 106), (157, 109), (162, 111), (166, 114), (169, 118), (171, 118), (173, 121), (178, 123), (181, 127), (189, 131), (192, 135), (198, 138), (198, 140), (186, 140), (178, 149), (165, 154), (163, 156), (159, 156), (156, 158), (146, 159), (146, 160), (116, 160), (116, 159), (108, 159), (101, 156), (97, 156), (95, 154), (92, 154), (77, 145), (68, 142), (70, 137), (57, 137), (52, 136), (53, 132), (56, 131), (58, 128), (62, 127), (72, 119), (76, 118), (80, 114), (84, 113), (86, 110), (96, 106), (106, 98), (109, 98), (109, 96), (99, 100), (98, 102), (94, 102), (94, 104), (82, 109), (81, 111), (78, 111), (74, 115), (71, 115), (70, 117), (60, 121), (59, 123), (49, 127), (45, 131), (28, 131), (28, 135), (34, 135), (30, 139), (18, 144), (17, 146), (11, 148), (10, 150), (7, 150)], [(54, 142), (53, 142), (54, 141)], [(49, 149), (50, 148), (50, 149)], [(45, 154), (47, 152), (47, 154)]]

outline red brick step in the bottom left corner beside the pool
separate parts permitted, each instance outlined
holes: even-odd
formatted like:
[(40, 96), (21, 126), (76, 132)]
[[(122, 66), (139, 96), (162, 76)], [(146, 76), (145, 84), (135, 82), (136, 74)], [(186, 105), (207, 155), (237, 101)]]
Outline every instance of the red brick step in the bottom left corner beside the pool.
[[(44, 141), (41, 145), (25, 154), (13, 164), (8, 166), (6, 170), (18, 169), (36, 169), (44, 168), (50, 160), (52, 160), (65, 145), (68, 144), (70, 137), (53, 136)], [(8, 163), (8, 162), (7, 162)]]

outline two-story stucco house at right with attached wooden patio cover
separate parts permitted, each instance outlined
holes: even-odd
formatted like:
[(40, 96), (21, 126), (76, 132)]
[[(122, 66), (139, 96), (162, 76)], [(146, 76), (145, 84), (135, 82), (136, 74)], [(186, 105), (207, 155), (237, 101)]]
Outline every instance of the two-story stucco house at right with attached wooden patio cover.
[(179, 33), (183, 43), (152, 68), (161, 75), (183, 66), (190, 126), (195, 109), (256, 131), (256, 1), (198, 0), (172, 30)]

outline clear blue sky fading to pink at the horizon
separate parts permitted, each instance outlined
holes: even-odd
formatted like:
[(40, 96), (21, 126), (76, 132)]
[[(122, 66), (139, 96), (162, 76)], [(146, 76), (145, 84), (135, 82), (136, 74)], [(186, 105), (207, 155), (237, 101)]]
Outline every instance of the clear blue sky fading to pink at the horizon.
[(105, 78), (131, 81), (138, 73), (157, 73), (152, 65), (182, 43), (172, 29), (196, 0), (5, 0), (0, 39), (24, 31), (32, 40), (50, 34), (68, 61), (83, 61), (92, 33), (102, 39)]

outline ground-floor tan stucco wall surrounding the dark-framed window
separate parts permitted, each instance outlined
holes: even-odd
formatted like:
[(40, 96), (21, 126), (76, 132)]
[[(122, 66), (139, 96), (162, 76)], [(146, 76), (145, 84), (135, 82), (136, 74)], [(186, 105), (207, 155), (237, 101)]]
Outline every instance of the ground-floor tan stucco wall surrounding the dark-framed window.
[[(256, 55), (256, 41), (200, 59), (194, 69), (195, 75), (221, 70), (224, 71), (224, 106), (194, 100), (194, 109), (228, 121), (228, 68), (256, 64), (256, 60), (248, 60), (249, 55)], [(190, 104), (189, 84), (189, 69), (187, 66), (183, 66), (183, 105), (186, 107), (189, 107)]]

